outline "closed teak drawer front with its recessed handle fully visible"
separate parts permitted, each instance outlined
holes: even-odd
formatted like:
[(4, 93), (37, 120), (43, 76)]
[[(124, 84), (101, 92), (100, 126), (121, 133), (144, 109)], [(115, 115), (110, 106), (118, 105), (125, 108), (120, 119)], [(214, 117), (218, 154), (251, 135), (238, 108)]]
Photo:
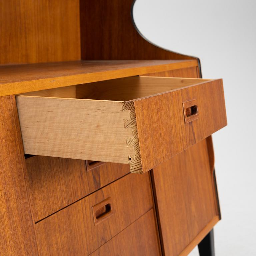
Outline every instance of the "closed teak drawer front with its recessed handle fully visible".
[(128, 174), (35, 224), (40, 255), (88, 255), (153, 206), (149, 174)]

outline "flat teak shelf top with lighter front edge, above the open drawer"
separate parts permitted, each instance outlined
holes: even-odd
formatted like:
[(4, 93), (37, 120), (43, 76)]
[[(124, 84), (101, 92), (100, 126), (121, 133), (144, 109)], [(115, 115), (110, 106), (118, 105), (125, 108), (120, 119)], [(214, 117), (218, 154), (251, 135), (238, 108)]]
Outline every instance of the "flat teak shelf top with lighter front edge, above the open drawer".
[(111, 60), (0, 66), (0, 96), (197, 65), (197, 60)]

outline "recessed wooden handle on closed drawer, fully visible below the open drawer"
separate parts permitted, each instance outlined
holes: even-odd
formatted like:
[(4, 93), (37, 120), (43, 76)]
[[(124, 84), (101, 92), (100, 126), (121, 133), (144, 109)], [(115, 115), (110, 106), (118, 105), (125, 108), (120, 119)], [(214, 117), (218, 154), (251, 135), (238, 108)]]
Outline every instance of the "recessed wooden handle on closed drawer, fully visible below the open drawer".
[(113, 215), (112, 207), (113, 206), (112, 206), (110, 197), (103, 200), (102, 202), (94, 205), (92, 207), (94, 224), (97, 225), (101, 221), (103, 221), (103, 220), (109, 218), (111, 215)]

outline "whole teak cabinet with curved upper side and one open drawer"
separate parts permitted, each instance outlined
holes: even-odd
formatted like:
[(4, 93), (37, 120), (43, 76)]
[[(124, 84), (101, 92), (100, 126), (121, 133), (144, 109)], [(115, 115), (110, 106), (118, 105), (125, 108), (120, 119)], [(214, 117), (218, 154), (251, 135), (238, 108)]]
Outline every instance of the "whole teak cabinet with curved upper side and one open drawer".
[(1, 2), (1, 255), (214, 255), (222, 80), (133, 4)]

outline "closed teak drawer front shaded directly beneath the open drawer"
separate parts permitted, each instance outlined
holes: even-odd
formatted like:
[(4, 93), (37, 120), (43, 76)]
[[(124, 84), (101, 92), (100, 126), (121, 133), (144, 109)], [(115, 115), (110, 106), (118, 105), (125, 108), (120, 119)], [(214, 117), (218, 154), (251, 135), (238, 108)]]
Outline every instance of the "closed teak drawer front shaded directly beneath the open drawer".
[(26, 167), (35, 222), (130, 172), (125, 164), (89, 163), (86, 168), (84, 160), (45, 156), (27, 158)]

